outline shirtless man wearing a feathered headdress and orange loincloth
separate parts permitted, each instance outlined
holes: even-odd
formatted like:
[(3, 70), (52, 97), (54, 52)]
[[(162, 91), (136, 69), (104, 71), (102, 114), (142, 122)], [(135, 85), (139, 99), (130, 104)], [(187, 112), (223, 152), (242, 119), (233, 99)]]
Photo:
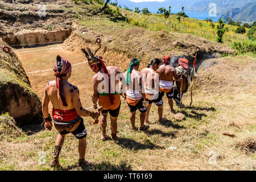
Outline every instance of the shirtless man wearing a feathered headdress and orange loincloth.
[[(119, 94), (119, 81), (125, 80), (123, 74), (117, 67), (106, 67), (101, 57), (94, 56), (89, 48), (82, 49), (88, 59), (88, 64), (96, 75), (92, 78), (93, 84), (93, 107), (97, 109), (97, 101), (102, 106), (100, 125), (101, 140), (107, 138), (106, 118), (110, 114), (110, 129), (112, 140), (117, 140), (117, 117), (121, 107)], [(96, 51), (97, 52), (97, 51)], [(95, 52), (95, 53), (96, 53)], [(110, 79), (111, 78), (111, 79)]]

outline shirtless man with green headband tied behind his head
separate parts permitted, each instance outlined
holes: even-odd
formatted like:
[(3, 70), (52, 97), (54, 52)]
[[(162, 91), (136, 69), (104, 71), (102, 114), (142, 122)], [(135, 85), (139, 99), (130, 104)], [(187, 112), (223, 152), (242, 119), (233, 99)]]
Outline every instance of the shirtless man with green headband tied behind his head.
[(131, 130), (137, 130), (137, 128), (135, 127), (135, 117), (137, 109), (141, 112), (141, 127), (139, 128), (139, 130), (146, 130), (149, 127), (148, 125), (144, 125), (148, 101), (145, 92), (142, 92), (142, 77), (141, 72), (139, 72), (138, 69), (139, 60), (136, 58), (131, 59), (129, 68), (124, 73), (124, 77), (126, 77), (127, 81), (126, 93), (124, 94), (131, 111)]

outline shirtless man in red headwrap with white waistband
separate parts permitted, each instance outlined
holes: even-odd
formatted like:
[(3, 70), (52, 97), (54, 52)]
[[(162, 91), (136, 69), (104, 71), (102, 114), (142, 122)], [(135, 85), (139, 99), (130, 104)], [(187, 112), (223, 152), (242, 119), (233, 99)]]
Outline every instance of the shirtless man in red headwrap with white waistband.
[(180, 78), (177, 77), (175, 68), (171, 67), (170, 60), (170, 56), (164, 56), (163, 65), (160, 65), (159, 69), (156, 72), (159, 73), (159, 92), (162, 97), (164, 96), (164, 93), (166, 93), (171, 111), (172, 113), (175, 113), (174, 103), (172, 101), (173, 82), (174, 78), (176, 81), (180, 81)]

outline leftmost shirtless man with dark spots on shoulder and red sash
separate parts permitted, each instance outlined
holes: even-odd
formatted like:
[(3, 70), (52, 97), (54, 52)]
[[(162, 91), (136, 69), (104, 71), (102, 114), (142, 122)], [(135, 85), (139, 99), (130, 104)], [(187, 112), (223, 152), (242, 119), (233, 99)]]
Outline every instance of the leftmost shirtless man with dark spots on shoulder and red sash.
[(52, 117), (56, 130), (59, 131), (55, 142), (53, 160), (50, 166), (59, 166), (59, 154), (63, 146), (65, 135), (72, 133), (79, 139), (79, 166), (83, 168), (86, 150), (86, 130), (82, 117), (97, 118), (98, 111), (90, 112), (82, 107), (79, 98), (79, 89), (68, 82), (71, 77), (71, 64), (68, 60), (56, 57), (55, 71), (56, 80), (49, 81), (44, 92), (42, 110), (44, 117), (44, 127), (52, 129), (52, 120), (48, 114), (48, 105), (52, 103)]

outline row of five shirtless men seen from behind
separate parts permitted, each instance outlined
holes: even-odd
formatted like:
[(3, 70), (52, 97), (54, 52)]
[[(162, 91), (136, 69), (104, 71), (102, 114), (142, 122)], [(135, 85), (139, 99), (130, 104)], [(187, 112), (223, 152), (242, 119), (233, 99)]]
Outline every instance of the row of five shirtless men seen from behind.
[(44, 117), (44, 127), (52, 129), (52, 119), (48, 114), (48, 104), (51, 101), (53, 123), (59, 135), (55, 142), (53, 160), (50, 166), (59, 166), (59, 154), (63, 146), (65, 135), (72, 133), (79, 139), (79, 166), (86, 166), (86, 130), (81, 117), (100, 117), (97, 110), (98, 105), (103, 107), (101, 111), (100, 126), (101, 140), (107, 138), (106, 118), (110, 114), (110, 129), (112, 140), (117, 140), (117, 118), (121, 106), (121, 96), (125, 98), (130, 108), (131, 130), (135, 127), (135, 115), (137, 109), (141, 112), (141, 126), (139, 130), (147, 130), (149, 125), (148, 114), (154, 102), (158, 106), (159, 122), (164, 122), (163, 99), (164, 93), (168, 98), (171, 112), (173, 109), (173, 78), (181, 81), (176, 74), (175, 68), (170, 65), (170, 57), (164, 56), (163, 60), (153, 59), (147, 68), (139, 69), (139, 60), (131, 59), (129, 69), (122, 73), (117, 67), (106, 67), (101, 57), (88, 58), (89, 67), (96, 73), (92, 78), (93, 84), (93, 108), (89, 111), (82, 107), (77, 86), (68, 82), (71, 77), (72, 66), (67, 59), (56, 57), (55, 71), (56, 80), (49, 81), (44, 92), (42, 111)]

